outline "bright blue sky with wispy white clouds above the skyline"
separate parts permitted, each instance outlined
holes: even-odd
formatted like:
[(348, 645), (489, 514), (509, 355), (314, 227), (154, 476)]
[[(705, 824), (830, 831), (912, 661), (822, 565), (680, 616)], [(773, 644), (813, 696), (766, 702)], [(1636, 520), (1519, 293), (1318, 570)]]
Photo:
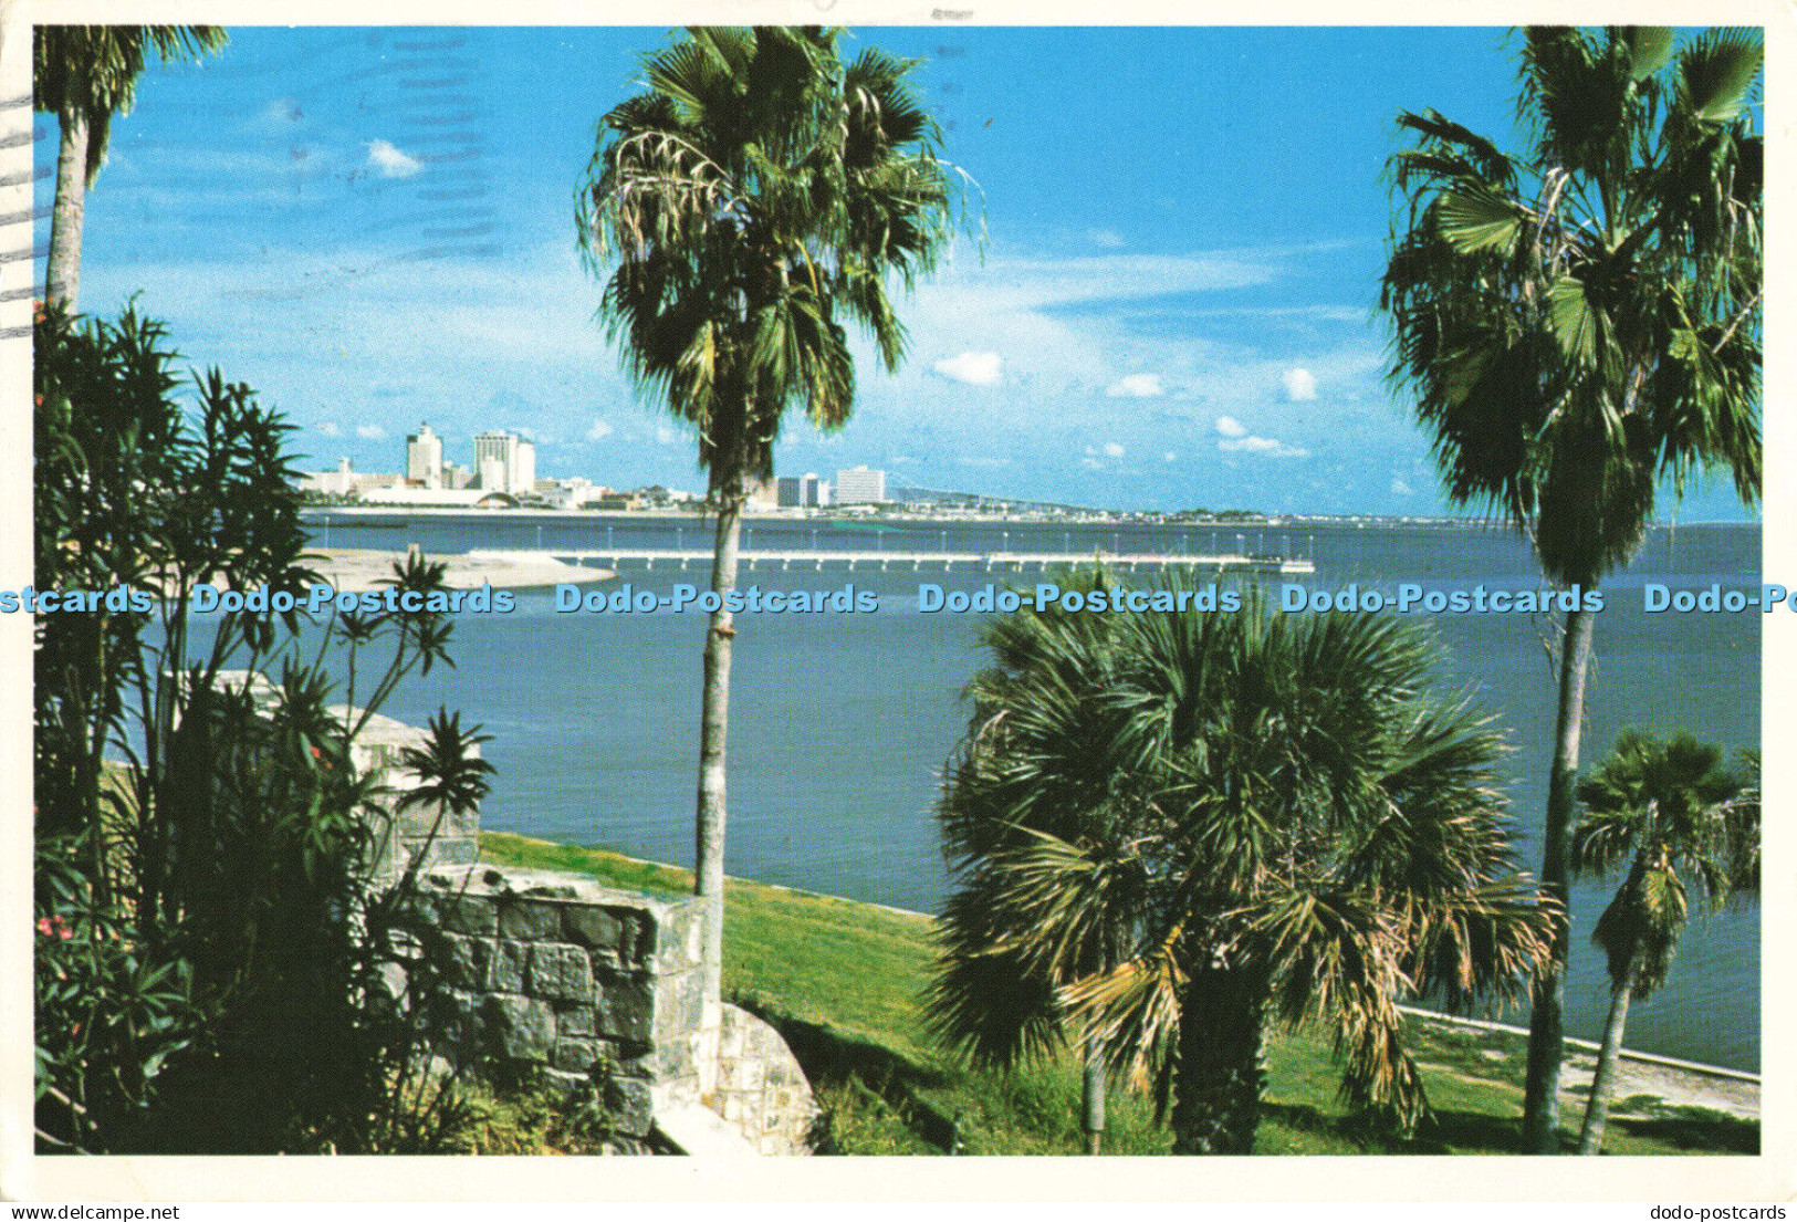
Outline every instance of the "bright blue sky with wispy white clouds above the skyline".
[[(537, 442), (539, 474), (701, 489), (593, 320), (573, 187), (640, 29), (234, 29), (153, 70), (88, 196), (81, 306), (140, 307), (302, 428), (395, 471), (420, 421)], [(879, 29), (985, 196), (900, 302), (897, 376), (800, 417), (782, 473), (1085, 505), (1443, 512), (1373, 313), (1400, 108), (1515, 144), (1495, 29)], [(56, 124), (38, 119), (38, 164)], [(47, 208), (50, 180), (40, 182)], [(40, 221), (40, 248), (47, 221)], [(41, 266), (40, 266), (41, 279)], [(1720, 482), (1682, 519), (1743, 510)]]

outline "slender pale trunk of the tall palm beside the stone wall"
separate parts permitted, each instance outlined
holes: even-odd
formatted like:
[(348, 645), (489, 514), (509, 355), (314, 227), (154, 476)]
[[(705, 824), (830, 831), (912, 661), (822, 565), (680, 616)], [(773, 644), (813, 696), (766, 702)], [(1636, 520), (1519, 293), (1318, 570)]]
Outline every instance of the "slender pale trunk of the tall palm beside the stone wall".
[(717, 510), (717, 543), (712, 548), (712, 591), (719, 606), (704, 636), (704, 695), (699, 713), (699, 812), (694, 828), (697, 863), (694, 893), (703, 900), (699, 981), (701, 1014), (701, 1091), (715, 1084), (717, 1039), (724, 1012), (724, 735), (730, 728), (730, 643), (728, 595), (737, 588), (737, 536), (742, 528), (742, 482), (731, 480)]

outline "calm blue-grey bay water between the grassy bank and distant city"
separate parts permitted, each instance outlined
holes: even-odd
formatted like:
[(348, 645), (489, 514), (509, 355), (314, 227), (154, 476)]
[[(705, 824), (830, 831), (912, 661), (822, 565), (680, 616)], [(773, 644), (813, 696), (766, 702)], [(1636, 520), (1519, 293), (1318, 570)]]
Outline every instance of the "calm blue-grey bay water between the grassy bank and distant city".
[[(314, 521), (331, 546), (426, 552), (471, 548), (708, 548), (697, 519), (397, 516), (386, 528), (336, 516)], [(401, 528), (394, 528), (399, 525)], [(1314, 588), (1402, 580), (1425, 588), (1536, 589), (1527, 546), (1497, 528), (1333, 523), (1326, 527), (1058, 527), (757, 521), (748, 550), (857, 552), (1256, 552), (1315, 561)], [(942, 566), (886, 571), (839, 564), (757, 566), (762, 589), (857, 589), (875, 615), (744, 615), (730, 706), (730, 850), (733, 875), (934, 911), (949, 888), (933, 818), (942, 762), (965, 728), (960, 692), (983, 663), (976, 615), (918, 615), (918, 582), (979, 589), (1024, 577)], [(618, 582), (658, 595), (704, 588), (706, 564), (625, 568)], [(1759, 527), (1657, 528), (1635, 562), (1605, 582), (1590, 676), (1583, 760), (1603, 757), (1626, 726), (1687, 730), (1731, 751), (1759, 742), (1759, 615), (1646, 615), (1641, 588), (1748, 588), (1759, 582)], [(602, 586), (602, 589), (616, 584)], [(1499, 715), (1515, 753), (1509, 796), (1522, 857), (1538, 864), (1554, 670), (1547, 624), (1527, 615), (1427, 616), (1447, 645), (1445, 683), (1472, 685)], [(500, 773), (482, 810), (514, 830), (692, 864), (699, 670), (704, 616), (557, 615), (548, 591), (523, 593), (505, 616), (456, 620), (453, 670), (410, 683), (388, 704), (422, 722), (438, 704), (464, 710), (494, 740)], [(1610, 893), (1574, 891), (1567, 1030), (1598, 1039), (1608, 983), (1589, 933)], [(1637, 1001), (1630, 1046), (1741, 1069), (1759, 1067), (1759, 908), (1741, 900), (1696, 916), (1666, 988)]]

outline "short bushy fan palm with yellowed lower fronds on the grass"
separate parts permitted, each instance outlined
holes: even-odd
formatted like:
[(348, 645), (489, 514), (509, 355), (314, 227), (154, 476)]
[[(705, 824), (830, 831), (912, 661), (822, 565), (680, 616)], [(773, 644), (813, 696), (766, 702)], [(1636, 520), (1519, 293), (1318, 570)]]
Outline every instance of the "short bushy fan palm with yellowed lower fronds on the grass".
[[(1173, 586), (1179, 589), (1179, 586)], [(1019, 611), (985, 633), (940, 818), (958, 891), (936, 1030), (1010, 1064), (1071, 1037), (1152, 1084), (1175, 1150), (1253, 1150), (1269, 1024), (1342, 1091), (1427, 1111), (1398, 1003), (1518, 990), (1547, 918), (1463, 697), (1391, 616)]]

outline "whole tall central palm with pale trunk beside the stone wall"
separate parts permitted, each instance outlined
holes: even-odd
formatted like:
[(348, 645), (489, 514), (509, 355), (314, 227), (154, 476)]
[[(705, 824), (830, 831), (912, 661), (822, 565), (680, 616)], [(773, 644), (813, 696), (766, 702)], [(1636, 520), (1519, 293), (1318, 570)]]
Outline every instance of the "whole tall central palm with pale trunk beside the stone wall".
[(785, 410), (823, 429), (854, 410), (845, 323), (888, 370), (906, 350), (888, 286), (909, 288), (954, 232), (956, 182), (913, 97), (913, 61), (843, 65), (821, 29), (692, 29), (643, 59), (645, 88), (600, 122), (577, 225), (624, 367), (699, 435), (717, 505), (699, 730), (697, 893), (706, 1026), (724, 929), (726, 597), (753, 482), (773, 474)]

